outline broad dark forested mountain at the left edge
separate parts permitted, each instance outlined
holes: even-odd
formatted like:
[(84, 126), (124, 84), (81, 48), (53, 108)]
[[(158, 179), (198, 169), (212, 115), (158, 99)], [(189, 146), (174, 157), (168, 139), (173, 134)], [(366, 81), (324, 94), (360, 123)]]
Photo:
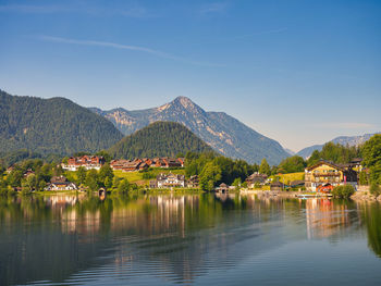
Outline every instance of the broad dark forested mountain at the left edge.
[(0, 90), (0, 152), (95, 152), (121, 138), (113, 124), (69, 99), (19, 97)]

